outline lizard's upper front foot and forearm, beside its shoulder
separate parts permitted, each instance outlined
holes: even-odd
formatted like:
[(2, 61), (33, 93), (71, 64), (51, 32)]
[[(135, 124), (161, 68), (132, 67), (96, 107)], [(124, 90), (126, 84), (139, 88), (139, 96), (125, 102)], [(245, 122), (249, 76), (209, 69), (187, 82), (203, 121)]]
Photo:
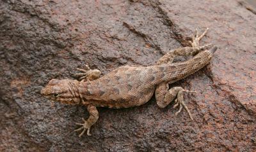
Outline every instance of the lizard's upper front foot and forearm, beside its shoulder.
[(76, 68), (78, 71), (82, 73), (76, 73), (77, 76), (80, 76), (79, 79), (86, 79), (86, 80), (94, 80), (100, 78), (100, 71), (98, 69), (91, 69), (88, 65), (86, 65), (86, 70)]

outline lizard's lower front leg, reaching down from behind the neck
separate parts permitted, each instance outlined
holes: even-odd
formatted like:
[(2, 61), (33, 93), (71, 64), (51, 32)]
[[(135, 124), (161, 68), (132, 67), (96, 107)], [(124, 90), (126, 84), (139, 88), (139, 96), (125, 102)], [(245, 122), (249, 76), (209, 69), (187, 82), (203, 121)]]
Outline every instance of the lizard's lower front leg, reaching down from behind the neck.
[(77, 125), (81, 125), (81, 128), (76, 129), (75, 131), (79, 131), (83, 129), (83, 132), (81, 132), (81, 134), (79, 134), (79, 137), (81, 137), (84, 132), (87, 130), (87, 135), (92, 135), (90, 134), (90, 128), (92, 127), (92, 125), (94, 123), (97, 122), (98, 118), (99, 118), (99, 112), (97, 111), (97, 108), (95, 106), (92, 105), (88, 105), (87, 110), (90, 114), (89, 118), (87, 120), (84, 120), (84, 123), (76, 123)]

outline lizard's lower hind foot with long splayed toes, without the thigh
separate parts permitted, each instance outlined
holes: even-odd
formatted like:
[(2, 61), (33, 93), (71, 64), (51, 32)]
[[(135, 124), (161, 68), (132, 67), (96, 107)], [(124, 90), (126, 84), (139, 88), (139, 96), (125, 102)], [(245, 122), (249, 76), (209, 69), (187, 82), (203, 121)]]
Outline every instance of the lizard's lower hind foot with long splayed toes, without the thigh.
[(175, 116), (177, 116), (180, 111), (182, 110), (182, 107), (184, 107), (186, 109), (186, 111), (188, 112), (189, 114), (189, 117), (191, 118), (191, 120), (193, 120), (193, 117), (188, 109), (188, 107), (186, 106), (185, 102), (184, 102), (184, 98), (183, 98), (183, 95), (184, 95), (184, 92), (194, 92), (196, 93), (195, 91), (190, 91), (190, 90), (180, 90), (177, 94), (177, 98), (174, 100), (174, 106), (173, 108), (176, 108), (179, 106), (179, 110), (175, 113)]

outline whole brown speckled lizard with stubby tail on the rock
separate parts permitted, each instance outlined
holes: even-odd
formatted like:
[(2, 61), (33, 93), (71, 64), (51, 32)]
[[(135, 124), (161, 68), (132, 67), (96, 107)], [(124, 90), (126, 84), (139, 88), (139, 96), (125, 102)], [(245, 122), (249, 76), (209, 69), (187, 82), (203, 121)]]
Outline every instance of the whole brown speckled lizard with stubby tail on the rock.
[[(164, 108), (174, 102), (173, 107), (179, 107), (175, 115), (179, 114), (182, 108), (186, 109), (191, 120), (193, 117), (184, 103), (184, 92), (194, 92), (184, 90), (180, 86), (169, 89), (169, 84), (195, 73), (211, 62), (217, 46), (211, 43), (200, 46), (202, 39), (209, 28), (201, 35), (196, 29), (191, 40), (191, 46), (185, 46), (170, 50), (163, 55), (153, 66), (121, 66), (113, 71), (101, 76), (98, 69), (78, 69), (82, 73), (81, 81), (76, 79), (51, 79), (42, 88), (41, 94), (52, 101), (64, 104), (81, 104), (87, 107), (89, 116), (75, 131), (83, 130), (81, 137), (99, 119), (97, 107), (125, 108), (141, 106), (150, 100), (155, 92), (157, 106)], [(207, 50), (211, 47), (211, 50)], [(184, 62), (173, 62), (176, 56), (192, 55), (193, 58)]]

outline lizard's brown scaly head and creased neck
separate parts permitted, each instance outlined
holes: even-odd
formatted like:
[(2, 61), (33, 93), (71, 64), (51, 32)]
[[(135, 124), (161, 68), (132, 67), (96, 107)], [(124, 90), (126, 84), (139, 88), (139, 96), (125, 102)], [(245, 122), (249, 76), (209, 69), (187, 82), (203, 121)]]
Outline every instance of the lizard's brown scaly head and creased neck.
[(72, 79), (51, 79), (41, 90), (47, 99), (65, 104), (79, 104), (79, 81)]

